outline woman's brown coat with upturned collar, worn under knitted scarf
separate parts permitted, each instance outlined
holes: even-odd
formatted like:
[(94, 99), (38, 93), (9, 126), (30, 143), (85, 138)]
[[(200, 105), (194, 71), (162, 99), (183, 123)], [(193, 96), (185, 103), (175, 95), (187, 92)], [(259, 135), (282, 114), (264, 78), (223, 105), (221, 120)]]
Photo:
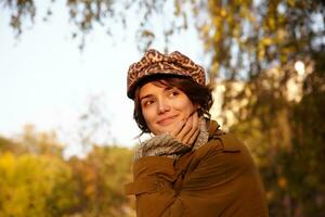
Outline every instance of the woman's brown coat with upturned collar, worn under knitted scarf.
[(246, 146), (216, 122), (209, 141), (178, 159), (146, 156), (133, 165), (138, 217), (266, 217), (259, 173)]

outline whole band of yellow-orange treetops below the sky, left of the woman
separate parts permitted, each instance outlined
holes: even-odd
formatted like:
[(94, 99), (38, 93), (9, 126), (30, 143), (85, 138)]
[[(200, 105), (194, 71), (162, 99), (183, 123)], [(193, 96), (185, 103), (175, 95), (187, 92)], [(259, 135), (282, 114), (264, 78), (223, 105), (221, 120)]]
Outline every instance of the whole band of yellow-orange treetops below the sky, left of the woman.
[(0, 216), (134, 216), (123, 193), (131, 150), (94, 146), (87, 158), (65, 161), (53, 152), (55, 139), (27, 129), (15, 141), (0, 140)]

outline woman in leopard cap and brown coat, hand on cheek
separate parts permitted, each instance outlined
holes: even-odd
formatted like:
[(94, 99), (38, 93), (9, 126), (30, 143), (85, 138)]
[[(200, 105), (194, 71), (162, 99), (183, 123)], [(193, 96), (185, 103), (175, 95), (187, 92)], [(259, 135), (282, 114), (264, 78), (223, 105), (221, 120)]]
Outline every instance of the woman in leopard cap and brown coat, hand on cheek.
[(134, 119), (152, 138), (135, 150), (136, 215), (264, 217), (263, 187), (245, 145), (210, 119), (212, 88), (180, 52), (145, 52), (130, 66)]

